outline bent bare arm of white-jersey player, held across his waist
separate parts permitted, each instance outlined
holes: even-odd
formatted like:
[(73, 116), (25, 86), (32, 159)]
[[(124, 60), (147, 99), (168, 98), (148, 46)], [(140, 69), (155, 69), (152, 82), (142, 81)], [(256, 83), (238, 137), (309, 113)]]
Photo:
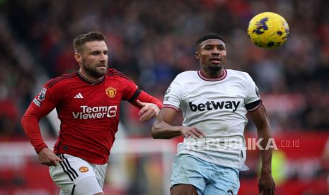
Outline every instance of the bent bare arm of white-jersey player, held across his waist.
[(163, 107), (156, 117), (156, 121), (152, 126), (151, 135), (153, 138), (173, 138), (183, 135), (185, 138), (202, 138), (204, 134), (193, 126), (173, 126), (171, 122), (175, 117), (176, 110), (170, 107)]

